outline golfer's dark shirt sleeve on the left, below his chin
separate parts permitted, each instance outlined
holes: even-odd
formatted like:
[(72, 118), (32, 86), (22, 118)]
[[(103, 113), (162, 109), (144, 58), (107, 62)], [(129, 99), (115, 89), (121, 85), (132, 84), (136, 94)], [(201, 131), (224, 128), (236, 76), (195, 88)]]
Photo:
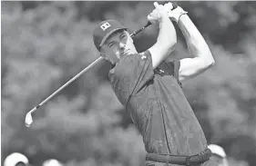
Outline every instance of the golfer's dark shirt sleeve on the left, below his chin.
[(141, 54), (122, 57), (116, 64), (114, 77), (112, 77), (114, 79), (111, 82), (114, 88), (130, 95), (138, 93), (153, 76), (152, 58), (147, 50)]

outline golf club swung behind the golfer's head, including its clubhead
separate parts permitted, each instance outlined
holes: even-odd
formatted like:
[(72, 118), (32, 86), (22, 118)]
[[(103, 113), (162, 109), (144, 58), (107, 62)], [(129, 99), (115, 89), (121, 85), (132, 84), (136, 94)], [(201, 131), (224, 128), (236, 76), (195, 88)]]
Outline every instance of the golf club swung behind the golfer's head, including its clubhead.
[[(168, 3), (168, 2), (167, 2)], [(173, 5), (173, 9), (175, 9), (177, 7), (176, 4), (172, 3)], [(173, 10), (172, 9), (172, 10)], [(142, 28), (138, 29), (138, 31), (133, 32), (132, 34), (130, 34), (131, 37), (134, 37), (136, 34), (140, 33), (141, 31), (143, 31), (145, 28), (147, 28), (151, 23), (148, 22), (146, 25), (144, 25)], [(44, 105), (46, 102), (48, 102), (52, 97), (54, 97), (56, 95), (56, 93), (59, 93), (62, 89), (64, 89), (65, 87), (67, 87), (67, 85), (69, 83), (74, 82), (80, 75), (82, 75), (83, 73), (87, 72), (87, 70), (89, 70), (90, 68), (92, 68), (95, 64), (97, 64), (99, 61), (101, 61), (103, 59), (103, 57), (99, 57), (97, 58), (97, 60), (95, 60), (93, 63), (90, 63), (84, 70), (82, 70), (80, 73), (77, 73), (77, 75), (75, 75), (73, 78), (71, 78), (67, 83), (65, 83), (64, 85), (62, 85), (60, 88), (58, 88), (56, 90), (56, 92), (52, 93), (50, 96), (48, 96), (42, 103), (39, 103), (38, 105), (36, 105), (36, 107), (34, 107), (32, 110), (30, 110), (29, 112), (26, 113), (26, 119), (25, 119), (25, 124), (26, 127), (30, 127), (32, 122), (33, 122), (33, 117), (32, 117), (32, 113), (36, 112), (37, 109), (39, 109), (42, 105)]]

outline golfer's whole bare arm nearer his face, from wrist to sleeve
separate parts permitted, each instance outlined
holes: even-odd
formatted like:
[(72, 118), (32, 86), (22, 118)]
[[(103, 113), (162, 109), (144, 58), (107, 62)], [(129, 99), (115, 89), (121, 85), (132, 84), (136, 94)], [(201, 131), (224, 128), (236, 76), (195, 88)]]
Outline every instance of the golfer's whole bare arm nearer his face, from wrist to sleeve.
[(157, 43), (148, 49), (152, 57), (152, 65), (154, 69), (174, 50), (176, 43), (177, 36), (174, 25), (168, 17), (163, 18), (159, 23)]

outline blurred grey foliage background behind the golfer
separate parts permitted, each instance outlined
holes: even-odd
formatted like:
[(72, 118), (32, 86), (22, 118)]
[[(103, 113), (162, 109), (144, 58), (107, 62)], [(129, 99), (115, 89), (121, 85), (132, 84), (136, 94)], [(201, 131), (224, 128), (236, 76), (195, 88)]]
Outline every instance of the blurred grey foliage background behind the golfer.
[[(132, 31), (147, 23), (153, 2), (1, 1), (2, 163), (18, 151), (33, 166), (56, 159), (67, 166), (143, 165), (137, 129), (108, 83), (109, 64), (97, 63), (33, 114), (36, 104), (99, 56), (93, 28), (117, 19)], [(216, 64), (183, 83), (209, 143), (230, 165), (256, 165), (256, 3), (178, 2), (210, 45)], [(169, 58), (189, 57), (178, 44)], [(158, 29), (135, 37), (138, 51), (156, 42)]]

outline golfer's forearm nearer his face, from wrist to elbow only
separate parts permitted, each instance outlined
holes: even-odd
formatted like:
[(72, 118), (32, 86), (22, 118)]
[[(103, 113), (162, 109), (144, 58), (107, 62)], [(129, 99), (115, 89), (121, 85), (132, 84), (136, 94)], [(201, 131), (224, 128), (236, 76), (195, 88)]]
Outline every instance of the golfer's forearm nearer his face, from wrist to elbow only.
[(174, 46), (177, 43), (177, 35), (174, 25), (171, 23), (168, 17), (163, 18), (162, 22), (159, 23), (159, 36), (157, 43), (168, 54), (174, 50)]

